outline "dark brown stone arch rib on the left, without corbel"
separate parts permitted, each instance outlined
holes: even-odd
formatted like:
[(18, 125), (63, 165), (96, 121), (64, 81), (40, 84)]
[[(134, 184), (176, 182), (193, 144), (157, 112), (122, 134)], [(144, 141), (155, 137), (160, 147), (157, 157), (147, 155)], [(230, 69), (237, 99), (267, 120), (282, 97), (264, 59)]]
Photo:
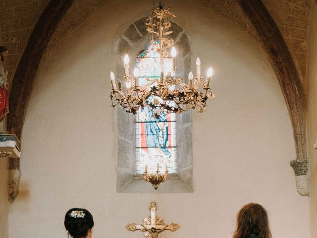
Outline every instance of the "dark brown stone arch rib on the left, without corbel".
[(26, 110), (42, 57), (74, 0), (51, 0), (36, 23), (15, 70), (9, 94), (7, 128), (21, 139)]

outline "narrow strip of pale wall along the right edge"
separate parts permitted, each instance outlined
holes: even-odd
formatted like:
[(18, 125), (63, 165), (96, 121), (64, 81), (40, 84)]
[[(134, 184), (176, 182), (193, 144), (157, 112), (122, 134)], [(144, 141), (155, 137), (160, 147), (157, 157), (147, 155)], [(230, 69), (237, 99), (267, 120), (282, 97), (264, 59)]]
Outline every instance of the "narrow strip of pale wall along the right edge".
[(310, 54), (308, 65), (308, 143), (311, 162), (311, 234), (312, 238), (317, 238), (317, 150), (314, 149), (314, 144), (317, 143), (317, 5), (314, 1), (312, 1), (311, 5)]

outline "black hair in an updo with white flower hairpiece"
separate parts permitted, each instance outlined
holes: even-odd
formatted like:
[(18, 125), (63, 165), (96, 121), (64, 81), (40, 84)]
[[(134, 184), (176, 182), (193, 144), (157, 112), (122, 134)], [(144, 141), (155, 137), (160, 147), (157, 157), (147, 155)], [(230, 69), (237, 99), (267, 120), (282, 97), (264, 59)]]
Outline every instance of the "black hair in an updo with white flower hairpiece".
[(64, 225), (68, 236), (85, 238), (89, 229), (94, 226), (93, 216), (83, 208), (72, 208), (65, 215)]

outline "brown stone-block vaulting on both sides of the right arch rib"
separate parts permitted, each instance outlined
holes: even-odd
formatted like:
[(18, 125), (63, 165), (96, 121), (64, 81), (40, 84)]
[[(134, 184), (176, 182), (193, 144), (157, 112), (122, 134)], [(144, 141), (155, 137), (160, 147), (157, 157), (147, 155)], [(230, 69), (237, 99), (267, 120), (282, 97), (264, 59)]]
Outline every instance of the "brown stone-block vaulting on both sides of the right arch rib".
[[(236, 0), (196, 1), (232, 20), (262, 45), (256, 29)], [(286, 41), (306, 89), (310, 0), (263, 0), (263, 2)]]

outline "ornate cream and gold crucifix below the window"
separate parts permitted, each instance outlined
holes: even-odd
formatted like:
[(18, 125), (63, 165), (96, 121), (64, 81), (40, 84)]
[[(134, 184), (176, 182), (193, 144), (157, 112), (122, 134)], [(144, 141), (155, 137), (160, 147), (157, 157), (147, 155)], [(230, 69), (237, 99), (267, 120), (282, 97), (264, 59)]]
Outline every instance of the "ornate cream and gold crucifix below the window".
[(150, 217), (144, 218), (143, 222), (140, 225), (137, 225), (135, 223), (130, 223), (126, 225), (126, 229), (132, 232), (141, 231), (143, 233), (143, 236), (146, 238), (158, 238), (159, 233), (165, 230), (174, 232), (180, 228), (180, 226), (176, 223), (171, 223), (169, 225), (166, 225), (164, 223), (163, 218), (157, 217), (156, 212), (158, 210), (158, 207), (155, 201), (152, 201), (150, 203), (149, 208), (151, 211)]

